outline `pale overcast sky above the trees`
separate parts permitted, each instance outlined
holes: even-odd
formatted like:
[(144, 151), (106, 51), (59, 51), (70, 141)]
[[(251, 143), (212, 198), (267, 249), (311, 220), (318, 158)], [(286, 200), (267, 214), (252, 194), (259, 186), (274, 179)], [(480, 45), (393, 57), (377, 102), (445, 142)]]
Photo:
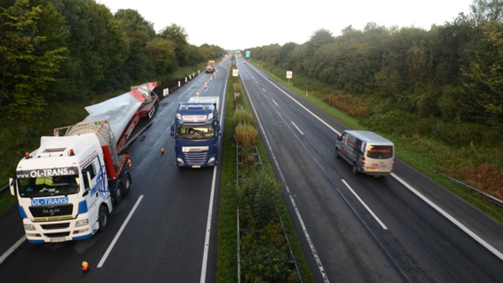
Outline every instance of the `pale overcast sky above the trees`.
[(352, 25), (421, 27), (443, 25), (460, 12), (469, 13), (472, 0), (97, 0), (112, 13), (137, 10), (160, 31), (171, 23), (186, 29), (189, 42), (245, 49), (271, 43), (303, 43), (314, 31), (328, 29), (335, 36)]

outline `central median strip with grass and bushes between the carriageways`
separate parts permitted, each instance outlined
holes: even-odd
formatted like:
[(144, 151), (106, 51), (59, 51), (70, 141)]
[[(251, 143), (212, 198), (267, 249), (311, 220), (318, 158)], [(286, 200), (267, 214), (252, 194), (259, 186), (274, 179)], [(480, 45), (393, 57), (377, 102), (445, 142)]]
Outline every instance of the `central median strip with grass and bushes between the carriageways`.
[[(299, 281), (296, 272), (286, 262), (288, 258), (287, 244), (285, 238), (279, 233), (282, 229), (281, 223), (279, 218), (273, 219), (274, 217), (272, 217), (278, 214), (283, 221), (302, 280), (303, 282), (312, 282), (313, 278), (305, 261), (300, 241), (295, 235), (288, 210), (281, 197), (282, 186), (274, 178), (275, 175), (268, 161), (262, 140), (259, 136), (255, 139), (257, 130), (251, 129), (254, 125), (250, 124), (253, 124), (254, 121), (249, 123), (251, 111), (244, 97), (244, 89), (240, 81), (231, 76), (227, 89), (218, 227), (217, 281), (231, 282), (237, 280), (236, 209), (239, 205), (241, 228), (246, 228), (246, 232), (241, 237), (242, 281)], [(237, 97), (238, 102), (235, 101), (234, 97), (235, 89), (240, 93), (240, 96)], [(238, 113), (235, 114), (236, 104), (242, 105), (243, 109), (238, 110)], [(236, 121), (233, 121), (233, 117)], [(251, 118), (253, 119), (253, 116)], [(235, 129), (238, 132), (235, 132)], [(250, 134), (250, 132), (253, 132), (253, 134)], [(246, 150), (246, 146), (244, 144), (240, 146), (239, 186), (236, 184), (237, 142), (235, 138), (255, 139), (257, 151), (262, 159), (261, 168), (254, 165), (256, 160), (248, 158), (251, 154)], [(240, 143), (242, 142), (240, 141)], [(255, 151), (254, 147), (253, 150)], [(245, 163), (250, 164), (250, 166), (245, 168)], [(253, 194), (250, 194), (250, 192), (253, 192)], [(269, 209), (273, 209), (273, 211)], [(264, 213), (269, 217), (260, 217)]]

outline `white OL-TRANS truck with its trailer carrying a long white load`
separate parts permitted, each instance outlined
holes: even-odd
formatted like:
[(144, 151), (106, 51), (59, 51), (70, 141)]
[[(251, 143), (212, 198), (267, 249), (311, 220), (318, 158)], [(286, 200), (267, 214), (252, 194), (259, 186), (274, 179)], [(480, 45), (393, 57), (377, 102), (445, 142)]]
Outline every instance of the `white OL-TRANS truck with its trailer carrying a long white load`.
[(155, 85), (86, 107), (84, 121), (56, 128), (25, 153), (9, 185), (29, 242), (84, 240), (105, 229), (112, 200), (129, 192), (131, 161), (121, 151), (138, 120), (155, 111)]

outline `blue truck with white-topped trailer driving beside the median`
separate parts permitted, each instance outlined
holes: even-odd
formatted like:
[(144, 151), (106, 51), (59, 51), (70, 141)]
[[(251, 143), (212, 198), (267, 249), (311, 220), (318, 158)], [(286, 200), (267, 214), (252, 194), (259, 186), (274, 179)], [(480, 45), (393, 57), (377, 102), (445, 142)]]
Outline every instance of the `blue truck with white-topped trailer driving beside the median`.
[(178, 167), (207, 167), (218, 163), (219, 97), (191, 97), (179, 103), (171, 136)]

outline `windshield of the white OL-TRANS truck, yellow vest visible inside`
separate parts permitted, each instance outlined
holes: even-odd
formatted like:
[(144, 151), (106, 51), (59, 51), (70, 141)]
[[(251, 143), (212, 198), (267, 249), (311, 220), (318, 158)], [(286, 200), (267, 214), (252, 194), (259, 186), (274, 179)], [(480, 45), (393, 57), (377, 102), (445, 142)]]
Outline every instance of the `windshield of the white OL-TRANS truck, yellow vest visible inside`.
[(19, 178), (19, 196), (22, 198), (49, 197), (77, 194), (79, 175)]

